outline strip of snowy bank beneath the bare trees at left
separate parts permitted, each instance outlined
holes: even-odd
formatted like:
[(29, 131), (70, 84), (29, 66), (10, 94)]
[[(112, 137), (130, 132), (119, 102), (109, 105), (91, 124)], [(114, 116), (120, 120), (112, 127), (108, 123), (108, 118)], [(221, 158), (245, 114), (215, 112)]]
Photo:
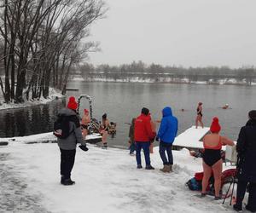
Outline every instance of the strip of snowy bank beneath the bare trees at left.
[(57, 98), (61, 98), (63, 97), (63, 95), (61, 95), (60, 91), (57, 91), (56, 89), (50, 88), (49, 89), (49, 97), (47, 99), (45, 99), (44, 97), (41, 97), (40, 100), (31, 100), (31, 101), (25, 101), (24, 103), (20, 103), (20, 104), (15, 104), (15, 103), (3, 103), (3, 95), (0, 95), (0, 110), (3, 109), (10, 109), (10, 108), (24, 108), (24, 107), (31, 107), (34, 105), (39, 105), (39, 104), (46, 104), (49, 101), (53, 101)]

